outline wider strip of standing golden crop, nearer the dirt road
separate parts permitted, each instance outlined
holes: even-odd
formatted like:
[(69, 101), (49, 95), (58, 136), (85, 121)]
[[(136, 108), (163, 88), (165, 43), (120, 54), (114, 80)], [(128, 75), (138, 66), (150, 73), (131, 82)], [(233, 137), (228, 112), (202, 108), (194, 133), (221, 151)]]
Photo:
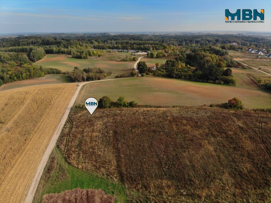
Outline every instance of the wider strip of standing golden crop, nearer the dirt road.
[(61, 90), (62, 88), (36, 90), (28, 104), (21, 109), (20, 115), (17, 115), (17, 118), (1, 131), (0, 181), (15, 163)]

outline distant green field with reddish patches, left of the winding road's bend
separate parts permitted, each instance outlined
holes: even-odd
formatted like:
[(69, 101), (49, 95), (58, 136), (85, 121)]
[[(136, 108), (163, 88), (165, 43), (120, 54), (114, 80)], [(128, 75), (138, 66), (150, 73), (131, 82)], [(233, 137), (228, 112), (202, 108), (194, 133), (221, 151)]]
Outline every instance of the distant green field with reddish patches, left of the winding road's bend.
[(118, 62), (101, 59), (76, 59), (66, 55), (47, 54), (43, 59), (35, 64), (46, 68), (57, 68), (59, 70), (73, 71), (75, 66), (80, 69), (84, 68), (100, 68), (105, 72), (112, 72), (109, 78), (114, 78), (116, 75), (128, 74), (133, 70), (134, 62)]

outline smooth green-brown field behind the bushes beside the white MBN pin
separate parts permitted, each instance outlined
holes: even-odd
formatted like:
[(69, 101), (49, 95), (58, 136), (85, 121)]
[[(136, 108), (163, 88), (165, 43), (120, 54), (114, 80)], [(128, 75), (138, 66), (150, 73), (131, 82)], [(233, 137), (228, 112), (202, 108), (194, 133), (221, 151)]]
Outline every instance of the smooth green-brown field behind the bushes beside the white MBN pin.
[(86, 98), (109, 96), (116, 101), (124, 96), (127, 101), (141, 105), (186, 106), (227, 102), (238, 97), (244, 108), (271, 108), (271, 94), (260, 87), (240, 87), (192, 82), (187, 80), (140, 77), (92, 82), (82, 87), (76, 104)]

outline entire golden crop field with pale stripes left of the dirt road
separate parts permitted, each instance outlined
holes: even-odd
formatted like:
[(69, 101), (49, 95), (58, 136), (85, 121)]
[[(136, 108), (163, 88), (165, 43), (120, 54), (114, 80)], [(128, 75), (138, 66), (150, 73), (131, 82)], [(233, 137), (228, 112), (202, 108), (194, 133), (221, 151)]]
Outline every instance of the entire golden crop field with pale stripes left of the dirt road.
[(41, 85), (1, 92), (0, 202), (24, 201), (76, 87)]

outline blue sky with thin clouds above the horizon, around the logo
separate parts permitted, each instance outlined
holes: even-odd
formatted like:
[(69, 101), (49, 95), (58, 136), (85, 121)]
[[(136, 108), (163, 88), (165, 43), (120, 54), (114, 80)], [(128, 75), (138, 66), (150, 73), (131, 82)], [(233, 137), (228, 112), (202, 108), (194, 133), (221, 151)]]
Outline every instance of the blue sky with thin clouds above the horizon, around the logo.
[[(264, 9), (264, 23), (225, 23), (225, 9)], [(271, 1), (4, 1), (0, 33), (271, 32)]]

